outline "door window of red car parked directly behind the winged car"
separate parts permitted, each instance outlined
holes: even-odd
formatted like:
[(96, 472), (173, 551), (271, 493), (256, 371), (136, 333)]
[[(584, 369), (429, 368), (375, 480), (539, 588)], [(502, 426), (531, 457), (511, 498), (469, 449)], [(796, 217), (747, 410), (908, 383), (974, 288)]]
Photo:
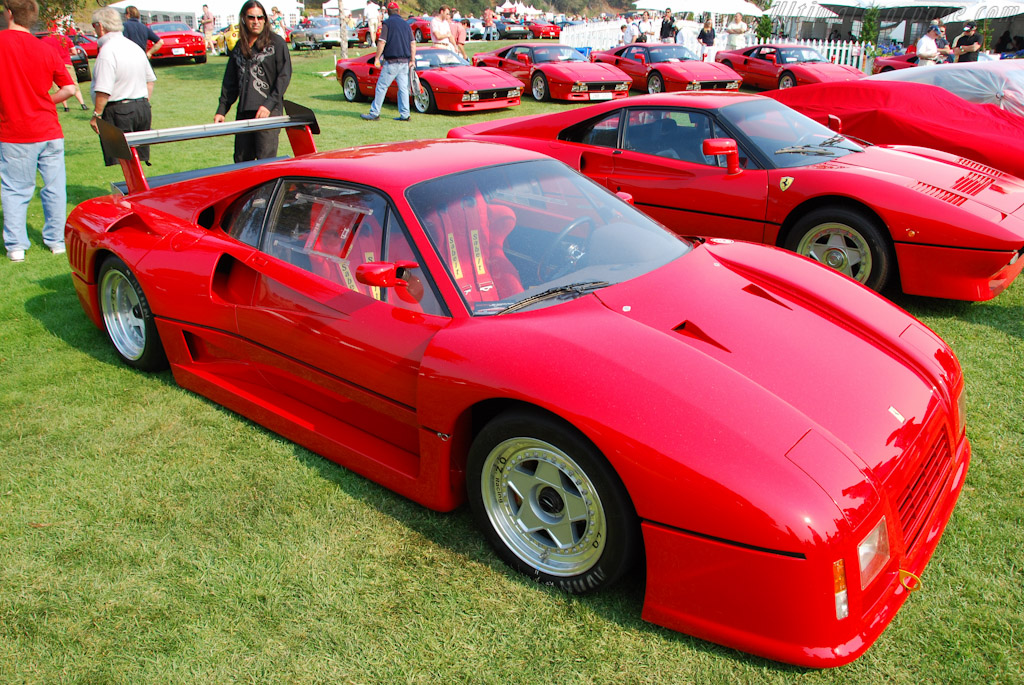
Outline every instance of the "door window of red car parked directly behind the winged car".
[(702, 112), (630, 110), (624, 134), (625, 149), (645, 155), (715, 165), (703, 155), (703, 141), (714, 137), (711, 119)]

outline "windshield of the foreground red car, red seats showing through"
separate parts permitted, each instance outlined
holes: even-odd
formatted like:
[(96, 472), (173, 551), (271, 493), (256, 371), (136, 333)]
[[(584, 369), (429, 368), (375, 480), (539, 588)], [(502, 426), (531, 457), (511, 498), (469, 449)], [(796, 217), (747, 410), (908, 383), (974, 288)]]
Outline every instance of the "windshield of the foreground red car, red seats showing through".
[(406, 197), (476, 315), (558, 304), (690, 249), (554, 161), (451, 174), (414, 185)]

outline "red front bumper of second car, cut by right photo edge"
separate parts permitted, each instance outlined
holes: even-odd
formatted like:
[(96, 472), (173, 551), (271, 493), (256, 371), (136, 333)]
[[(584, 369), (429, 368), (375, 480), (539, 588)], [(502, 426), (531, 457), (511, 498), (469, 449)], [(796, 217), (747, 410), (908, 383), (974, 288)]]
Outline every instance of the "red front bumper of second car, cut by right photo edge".
[(897, 243), (896, 260), (900, 284), (908, 295), (984, 301), (1005, 291), (1020, 274), (1024, 247), (1014, 253)]

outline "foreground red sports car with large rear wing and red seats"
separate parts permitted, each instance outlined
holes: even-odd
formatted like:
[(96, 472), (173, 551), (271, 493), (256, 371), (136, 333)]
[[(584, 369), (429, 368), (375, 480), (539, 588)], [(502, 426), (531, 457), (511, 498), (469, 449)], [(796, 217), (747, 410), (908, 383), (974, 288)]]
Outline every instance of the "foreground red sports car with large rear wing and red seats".
[(505, 145), (317, 155), (291, 128), (294, 160), (147, 181), (130, 147), (189, 130), (100, 126), (126, 195), (71, 213), (68, 256), (126, 363), (468, 501), (540, 583), (642, 560), (645, 618), (770, 658), (850, 661), (916, 589), (967, 475), (964, 379), (874, 293)]

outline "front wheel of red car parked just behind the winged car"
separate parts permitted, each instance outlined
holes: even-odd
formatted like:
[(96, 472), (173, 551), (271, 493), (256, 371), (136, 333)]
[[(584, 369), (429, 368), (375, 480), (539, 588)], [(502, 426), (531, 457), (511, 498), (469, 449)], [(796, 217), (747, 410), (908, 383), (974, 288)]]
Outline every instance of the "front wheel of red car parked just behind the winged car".
[(896, 254), (885, 226), (861, 210), (816, 209), (797, 221), (784, 247), (880, 293), (889, 288), (896, 271)]

